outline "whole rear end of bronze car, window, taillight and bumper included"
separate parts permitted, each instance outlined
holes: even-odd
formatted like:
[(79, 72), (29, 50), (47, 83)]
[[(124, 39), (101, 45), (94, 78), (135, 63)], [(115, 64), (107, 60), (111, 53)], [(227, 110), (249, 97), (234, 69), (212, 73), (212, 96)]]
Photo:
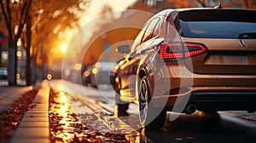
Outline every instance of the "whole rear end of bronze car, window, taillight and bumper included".
[[(179, 87), (171, 87), (169, 97), (189, 95), (188, 106), (201, 111), (256, 111), (253, 17), (256, 11), (242, 9), (179, 11), (176, 27), (183, 43), (167, 43), (160, 49), (160, 56), (172, 67), (171, 83), (180, 79)], [(174, 65), (179, 66), (177, 70)], [(183, 80), (191, 81), (191, 85), (182, 84)], [(177, 89), (183, 92), (177, 94)], [(173, 106), (173, 100), (167, 105)]]

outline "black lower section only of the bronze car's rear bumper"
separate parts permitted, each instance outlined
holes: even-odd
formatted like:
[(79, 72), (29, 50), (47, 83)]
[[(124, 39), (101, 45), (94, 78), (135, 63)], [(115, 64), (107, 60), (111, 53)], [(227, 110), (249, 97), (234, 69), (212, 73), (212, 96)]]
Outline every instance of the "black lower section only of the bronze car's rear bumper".
[(190, 99), (199, 111), (256, 111), (256, 91), (201, 92)]

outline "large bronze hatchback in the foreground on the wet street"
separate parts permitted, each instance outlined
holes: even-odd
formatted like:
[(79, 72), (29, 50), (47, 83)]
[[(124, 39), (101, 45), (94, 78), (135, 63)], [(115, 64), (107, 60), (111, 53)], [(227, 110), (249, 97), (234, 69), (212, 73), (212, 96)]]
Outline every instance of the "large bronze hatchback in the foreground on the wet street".
[(131, 47), (118, 48), (126, 53), (113, 68), (119, 112), (137, 103), (142, 126), (152, 129), (163, 126), (166, 111), (255, 112), (255, 17), (221, 7), (155, 14)]

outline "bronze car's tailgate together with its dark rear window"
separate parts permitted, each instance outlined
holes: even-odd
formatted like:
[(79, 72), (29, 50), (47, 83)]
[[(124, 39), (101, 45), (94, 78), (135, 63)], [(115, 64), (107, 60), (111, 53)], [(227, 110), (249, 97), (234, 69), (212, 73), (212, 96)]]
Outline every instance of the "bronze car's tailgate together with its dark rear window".
[(255, 16), (255, 11), (237, 9), (208, 9), (203, 12), (192, 10), (181, 13), (183, 40), (203, 43), (207, 47), (207, 54), (192, 59), (196, 62), (193, 62), (193, 70), (188, 66), (189, 71), (201, 74), (254, 75)]

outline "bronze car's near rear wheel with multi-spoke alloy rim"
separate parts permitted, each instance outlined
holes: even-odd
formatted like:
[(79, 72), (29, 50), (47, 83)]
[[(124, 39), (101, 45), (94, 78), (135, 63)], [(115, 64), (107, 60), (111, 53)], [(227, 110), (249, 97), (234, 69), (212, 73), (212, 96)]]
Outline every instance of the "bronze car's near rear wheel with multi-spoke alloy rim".
[(166, 110), (155, 108), (150, 104), (151, 94), (148, 77), (144, 76), (138, 84), (139, 119), (145, 129), (160, 129), (166, 122)]

